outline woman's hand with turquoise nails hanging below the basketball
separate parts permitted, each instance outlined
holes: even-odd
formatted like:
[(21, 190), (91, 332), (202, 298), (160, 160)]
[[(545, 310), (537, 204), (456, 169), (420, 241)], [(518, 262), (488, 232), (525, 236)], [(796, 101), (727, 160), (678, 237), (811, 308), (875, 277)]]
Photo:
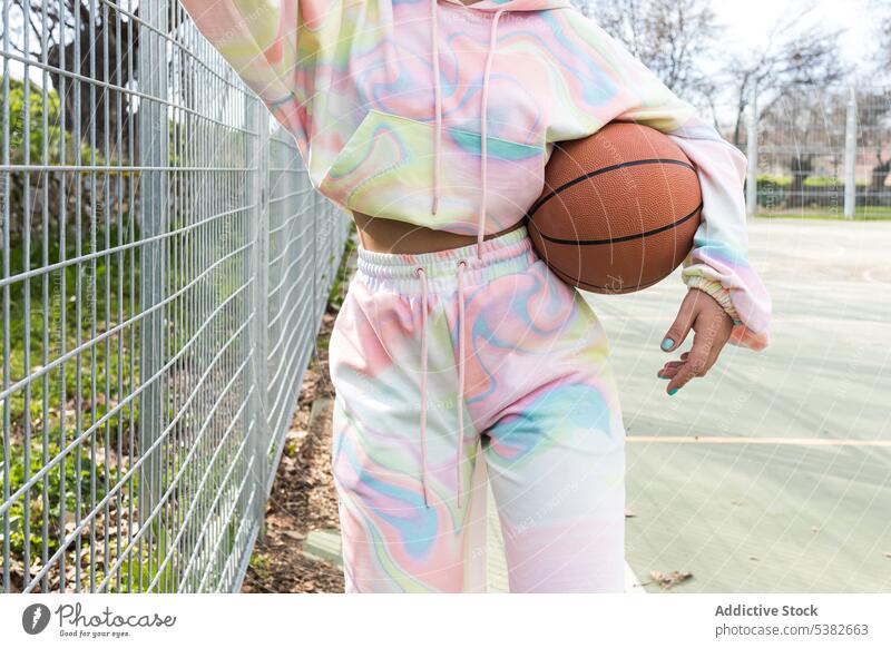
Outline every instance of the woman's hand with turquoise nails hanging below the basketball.
[(675, 351), (693, 328), (693, 348), (681, 354), (679, 361), (669, 361), (656, 375), (668, 380), (665, 387), (674, 395), (693, 377), (702, 377), (715, 364), (721, 350), (730, 340), (733, 320), (708, 293), (697, 288), (687, 291), (677, 317), (662, 341), (662, 350)]

